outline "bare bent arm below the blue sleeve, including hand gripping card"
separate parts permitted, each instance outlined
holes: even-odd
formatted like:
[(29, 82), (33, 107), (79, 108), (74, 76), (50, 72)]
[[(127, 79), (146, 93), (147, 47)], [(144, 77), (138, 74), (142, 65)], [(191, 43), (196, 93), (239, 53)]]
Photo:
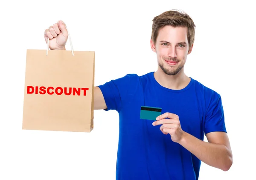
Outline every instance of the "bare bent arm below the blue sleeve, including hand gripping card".
[(179, 117), (173, 113), (164, 113), (158, 116), (153, 125), (161, 125), (160, 130), (163, 134), (170, 134), (172, 141), (182, 145), (207, 165), (223, 171), (230, 169), (233, 156), (226, 132), (207, 133), (208, 142), (204, 142), (183, 131)]

